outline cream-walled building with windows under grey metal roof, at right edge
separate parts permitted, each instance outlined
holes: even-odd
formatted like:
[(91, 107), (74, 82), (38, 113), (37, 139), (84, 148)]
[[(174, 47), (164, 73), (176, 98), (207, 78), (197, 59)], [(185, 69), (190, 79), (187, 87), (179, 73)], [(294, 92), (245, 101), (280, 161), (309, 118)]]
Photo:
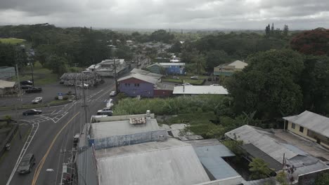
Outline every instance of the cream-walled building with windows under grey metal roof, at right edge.
[[(285, 128), (296, 135), (317, 142), (329, 149), (329, 118), (304, 111), (296, 116), (283, 117)], [(288, 127), (286, 127), (286, 121)]]

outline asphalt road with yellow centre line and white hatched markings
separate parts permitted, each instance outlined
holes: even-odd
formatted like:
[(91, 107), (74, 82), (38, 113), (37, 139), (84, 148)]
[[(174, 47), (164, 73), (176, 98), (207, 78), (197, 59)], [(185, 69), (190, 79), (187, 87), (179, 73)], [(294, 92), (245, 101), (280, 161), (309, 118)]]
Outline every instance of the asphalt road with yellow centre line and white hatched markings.
[[(105, 79), (105, 83), (98, 85), (98, 88), (85, 91), (88, 119), (98, 109), (105, 107), (105, 100), (110, 98), (110, 91), (114, 89), (114, 80)], [(84, 124), (83, 104), (83, 100), (78, 100), (64, 106), (43, 108), (43, 114), (39, 116), (19, 116), (21, 121), (32, 124), (37, 129), (26, 151), (34, 153), (36, 165), (30, 174), (14, 172), (12, 179), (1, 178), (0, 184), (8, 184), (8, 179), (11, 180), (9, 184), (60, 184), (62, 164), (67, 163), (72, 156), (69, 151), (73, 148), (73, 136)], [(17, 159), (12, 161), (13, 164), (16, 162)]]

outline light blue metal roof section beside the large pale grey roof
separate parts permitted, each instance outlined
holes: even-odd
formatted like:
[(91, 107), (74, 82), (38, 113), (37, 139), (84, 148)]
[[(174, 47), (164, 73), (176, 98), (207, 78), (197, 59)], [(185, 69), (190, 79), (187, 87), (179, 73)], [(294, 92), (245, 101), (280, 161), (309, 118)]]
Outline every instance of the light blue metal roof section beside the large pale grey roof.
[(202, 165), (212, 174), (214, 179), (226, 179), (229, 177), (240, 177), (226, 161), (221, 157), (235, 156), (223, 144), (212, 146), (194, 146)]

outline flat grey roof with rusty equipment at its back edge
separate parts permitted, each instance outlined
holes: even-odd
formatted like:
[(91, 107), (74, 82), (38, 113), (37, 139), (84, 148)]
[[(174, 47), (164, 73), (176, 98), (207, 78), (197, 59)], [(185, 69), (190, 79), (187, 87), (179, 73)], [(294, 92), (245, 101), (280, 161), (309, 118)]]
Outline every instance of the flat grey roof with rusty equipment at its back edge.
[(157, 120), (148, 118), (146, 124), (130, 124), (129, 120), (108, 121), (91, 124), (91, 139), (101, 139), (115, 135), (132, 135), (141, 132), (160, 130)]

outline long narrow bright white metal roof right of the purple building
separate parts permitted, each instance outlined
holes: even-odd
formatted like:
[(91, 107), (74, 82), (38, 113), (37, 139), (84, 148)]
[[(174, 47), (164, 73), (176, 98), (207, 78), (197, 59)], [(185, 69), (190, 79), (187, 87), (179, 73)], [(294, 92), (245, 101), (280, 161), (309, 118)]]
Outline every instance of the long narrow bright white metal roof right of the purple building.
[(174, 87), (174, 95), (228, 95), (226, 88), (221, 85), (185, 85)]

